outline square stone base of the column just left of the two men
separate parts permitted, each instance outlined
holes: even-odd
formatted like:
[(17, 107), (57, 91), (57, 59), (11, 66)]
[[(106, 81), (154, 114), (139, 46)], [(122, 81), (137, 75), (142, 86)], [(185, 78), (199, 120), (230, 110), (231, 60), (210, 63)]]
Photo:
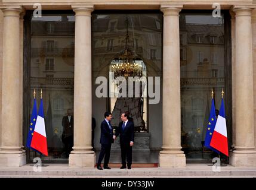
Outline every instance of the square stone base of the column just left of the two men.
[(94, 167), (96, 163), (95, 153), (92, 154), (69, 154), (70, 167)]

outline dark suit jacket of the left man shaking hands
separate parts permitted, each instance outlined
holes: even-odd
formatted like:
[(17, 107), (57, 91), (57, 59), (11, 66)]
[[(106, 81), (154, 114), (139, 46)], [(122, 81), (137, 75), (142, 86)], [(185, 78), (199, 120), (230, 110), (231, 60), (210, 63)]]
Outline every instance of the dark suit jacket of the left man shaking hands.
[(104, 121), (100, 124), (100, 144), (111, 144), (114, 143), (113, 140), (113, 128), (110, 130), (107, 122)]

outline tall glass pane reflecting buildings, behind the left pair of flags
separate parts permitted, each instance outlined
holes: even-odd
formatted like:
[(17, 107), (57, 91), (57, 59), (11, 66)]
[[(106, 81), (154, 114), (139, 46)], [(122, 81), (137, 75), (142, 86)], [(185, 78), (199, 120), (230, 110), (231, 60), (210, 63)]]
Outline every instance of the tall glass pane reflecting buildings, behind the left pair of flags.
[(42, 88), (49, 153), (42, 160), (67, 162), (73, 147), (74, 34), (73, 15), (32, 17), (30, 97)]

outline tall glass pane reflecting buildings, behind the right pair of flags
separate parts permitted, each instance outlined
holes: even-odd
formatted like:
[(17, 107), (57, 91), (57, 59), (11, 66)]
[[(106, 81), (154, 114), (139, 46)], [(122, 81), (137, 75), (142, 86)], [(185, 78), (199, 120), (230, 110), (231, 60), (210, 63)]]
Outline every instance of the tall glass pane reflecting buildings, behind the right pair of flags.
[(211, 15), (180, 15), (181, 146), (187, 161), (211, 162), (203, 147), (211, 88), (219, 109), (224, 88), (224, 23)]

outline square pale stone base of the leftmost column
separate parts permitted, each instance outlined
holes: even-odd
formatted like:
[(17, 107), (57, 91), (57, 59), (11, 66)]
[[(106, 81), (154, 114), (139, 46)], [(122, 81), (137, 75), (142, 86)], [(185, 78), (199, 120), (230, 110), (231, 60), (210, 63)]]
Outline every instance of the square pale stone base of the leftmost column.
[(0, 166), (20, 167), (26, 164), (26, 153), (20, 154), (0, 154)]

